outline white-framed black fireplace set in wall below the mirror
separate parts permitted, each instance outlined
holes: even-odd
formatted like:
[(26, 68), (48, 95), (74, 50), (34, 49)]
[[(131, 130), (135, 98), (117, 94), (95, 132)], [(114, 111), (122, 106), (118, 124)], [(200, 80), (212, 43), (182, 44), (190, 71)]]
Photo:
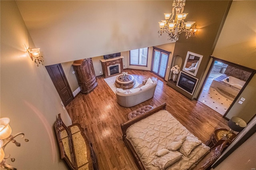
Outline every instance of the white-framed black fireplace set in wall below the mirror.
[(181, 71), (177, 86), (188, 92), (190, 95), (193, 95), (197, 82), (198, 79), (196, 77), (191, 77), (190, 75)]

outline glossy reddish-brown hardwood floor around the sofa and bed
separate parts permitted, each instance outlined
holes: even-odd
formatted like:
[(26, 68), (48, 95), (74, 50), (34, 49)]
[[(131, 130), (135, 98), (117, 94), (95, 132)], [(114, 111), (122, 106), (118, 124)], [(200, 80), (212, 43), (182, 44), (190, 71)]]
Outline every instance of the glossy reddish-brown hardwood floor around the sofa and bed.
[(222, 115), (199, 101), (190, 101), (149, 71), (126, 70), (142, 83), (150, 77), (158, 81), (154, 97), (125, 108), (116, 102), (116, 95), (103, 77), (97, 78), (98, 86), (91, 93), (78, 95), (66, 109), (73, 123), (80, 123), (92, 142), (100, 170), (136, 170), (136, 164), (124, 142), (120, 123), (127, 121), (127, 114), (144, 105), (156, 107), (167, 104), (169, 111), (182, 125), (206, 142), (215, 128), (228, 128)]

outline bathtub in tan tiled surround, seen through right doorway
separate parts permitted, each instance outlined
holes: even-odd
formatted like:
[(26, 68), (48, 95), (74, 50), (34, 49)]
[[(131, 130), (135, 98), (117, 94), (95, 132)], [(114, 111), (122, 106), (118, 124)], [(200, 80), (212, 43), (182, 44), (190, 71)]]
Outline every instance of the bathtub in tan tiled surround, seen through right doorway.
[(212, 81), (210, 87), (216, 89), (222, 96), (233, 101), (244, 86), (244, 83), (245, 81), (236, 77), (221, 75)]

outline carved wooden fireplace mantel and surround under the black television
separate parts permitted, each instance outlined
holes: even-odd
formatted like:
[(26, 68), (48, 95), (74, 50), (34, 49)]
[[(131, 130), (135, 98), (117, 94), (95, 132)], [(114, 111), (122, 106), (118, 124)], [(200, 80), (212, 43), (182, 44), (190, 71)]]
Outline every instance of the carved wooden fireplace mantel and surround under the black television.
[[(112, 59), (100, 59), (101, 61), (101, 64), (102, 64), (102, 71), (103, 71), (103, 75), (104, 77), (111, 77), (111, 76), (114, 76), (114, 75), (118, 75), (120, 73), (122, 73), (124, 71), (123, 69), (123, 56), (120, 56), (120, 57), (115, 57), (115, 58), (112, 58)], [(116, 74), (110, 74), (110, 67), (113, 67), (113, 66), (116, 66), (118, 65), (118, 73)]]

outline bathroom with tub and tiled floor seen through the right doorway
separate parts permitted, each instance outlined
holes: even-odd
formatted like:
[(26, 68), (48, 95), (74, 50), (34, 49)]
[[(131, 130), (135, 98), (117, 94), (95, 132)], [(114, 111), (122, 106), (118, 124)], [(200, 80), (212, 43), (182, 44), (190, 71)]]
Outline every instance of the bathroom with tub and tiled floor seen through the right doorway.
[(248, 84), (251, 74), (246, 67), (213, 58), (198, 101), (224, 117)]

